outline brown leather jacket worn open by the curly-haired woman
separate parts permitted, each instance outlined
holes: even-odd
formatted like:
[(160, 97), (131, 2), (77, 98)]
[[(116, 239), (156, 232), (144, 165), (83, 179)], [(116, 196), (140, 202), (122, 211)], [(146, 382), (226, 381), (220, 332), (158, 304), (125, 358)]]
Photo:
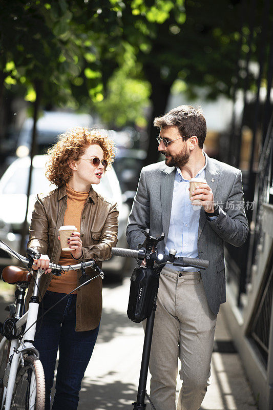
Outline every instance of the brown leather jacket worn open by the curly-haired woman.
[[(48, 255), (50, 261), (58, 263), (61, 253), (58, 229), (64, 224), (67, 209), (65, 186), (47, 194), (37, 195), (29, 228), (28, 247)], [(81, 214), (80, 236), (83, 257), (80, 261), (91, 258), (103, 261), (111, 257), (111, 249), (117, 243), (118, 211), (116, 204), (104, 199), (91, 187), (87, 202)], [(75, 260), (75, 264), (78, 261)], [(92, 270), (91, 270), (92, 271)], [(92, 274), (92, 272), (87, 273)], [(78, 277), (80, 271), (75, 272)], [(95, 275), (94, 275), (95, 276)], [(43, 297), (51, 281), (52, 274), (43, 275), (40, 292)], [(30, 283), (27, 306), (32, 295), (34, 281)], [(98, 326), (102, 310), (101, 278), (92, 280), (77, 291), (76, 331), (88, 331)]]

